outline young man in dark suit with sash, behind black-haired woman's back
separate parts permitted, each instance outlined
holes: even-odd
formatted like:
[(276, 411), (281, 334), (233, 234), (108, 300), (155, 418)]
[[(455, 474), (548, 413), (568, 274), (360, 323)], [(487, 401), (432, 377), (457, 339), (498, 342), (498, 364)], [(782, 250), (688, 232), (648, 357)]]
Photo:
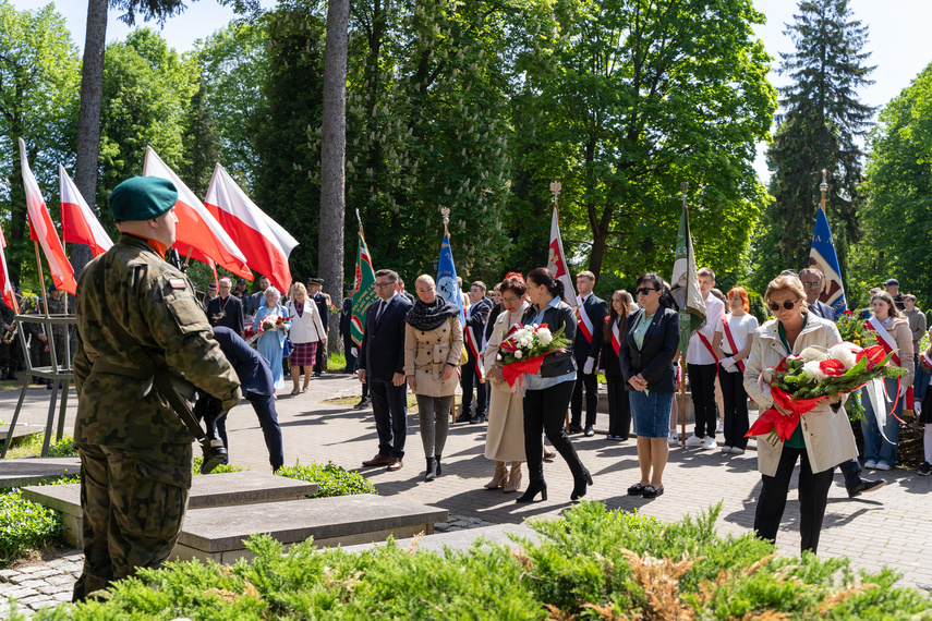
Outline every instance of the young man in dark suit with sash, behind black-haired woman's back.
[(570, 401), (570, 434), (579, 434), (582, 428), (582, 395), (585, 393), (585, 435), (594, 436), (595, 414), (598, 410), (598, 355), (602, 353), (605, 317), (608, 316), (608, 304), (597, 297), (592, 288), (595, 285), (595, 275), (581, 271), (576, 277), (577, 326), (572, 353), (576, 357), (576, 387)]

